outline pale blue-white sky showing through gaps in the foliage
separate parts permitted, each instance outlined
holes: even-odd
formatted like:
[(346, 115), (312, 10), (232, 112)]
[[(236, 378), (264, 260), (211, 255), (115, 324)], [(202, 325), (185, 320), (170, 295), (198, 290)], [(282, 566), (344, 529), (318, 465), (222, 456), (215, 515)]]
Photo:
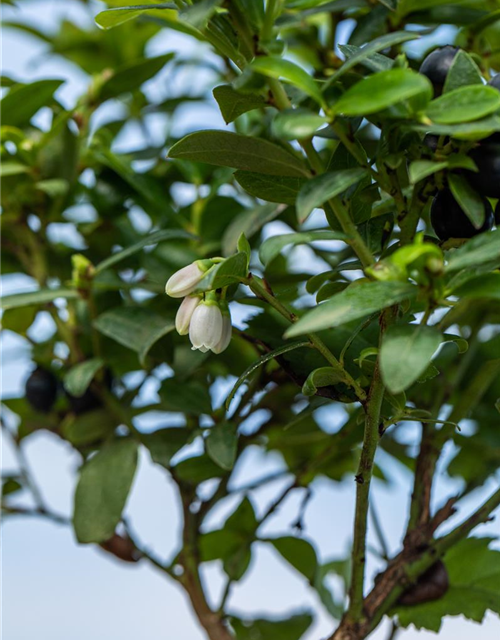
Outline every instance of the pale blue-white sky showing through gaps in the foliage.
[[(73, 0), (32, 0), (20, 2), (20, 8), (0, 5), (3, 20), (23, 19), (39, 28), (51, 30), (64, 17), (77, 19), (80, 24), (92, 24), (89, 12)], [(93, 5), (97, 13), (99, 3)], [(349, 25), (345, 27), (345, 37)], [(434, 38), (442, 43), (451, 41), (453, 33), (445, 28)], [(345, 38), (341, 39), (345, 42)], [(412, 44), (427, 47), (430, 41)], [(159, 54), (176, 51), (179, 56), (209, 55), (207, 49), (191, 39), (171, 31), (163, 31), (150, 43), (148, 53)], [(410, 53), (412, 50), (410, 50)], [(88, 83), (88, 77), (76, 66), (60, 58), (49, 58), (45, 46), (30, 36), (14, 30), (3, 29), (1, 34), (2, 73), (20, 81), (42, 77), (63, 78), (65, 85), (58, 97), (67, 105), (74, 103)], [(194, 75), (193, 72), (180, 74), (174, 84), (166, 83), (160, 74), (149, 83), (148, 91), (159, 99), (172, 97), (184, 86), (209, 84), (211, 78)], [(99, 115), (101, 122), (112, 118), (119, 109), (113, 103)], [(44, 114), (39, 116), (43, 124)], [(150, 123), (154, 135), (154, 119)], [(189, 106), (180, 111), (176, 120), (177, 133), (207, 127), (224, 127), (217, 106)], [(134, 127), (128, 128), (120, 138), (117, 150), (125, 151), (134, 147), (139, 133)], [(189, 194), (186, 194), (189, 197)], [(271, 233), (282, 231), (279, 226)], [(52, 233), (73, 243), (80, 242), (71, 225), (58, 225)], [(27, 277), (5, 276), (0, 279), (4, 294), (26, 291), (33, 287)], [(42, 339), (51, 332), (50, 322), (39, 314), (31, 328), (31, 337)], [(28, 343), (21, 337), (2, 332), (1, 393), (2, 397), (18, 397), (23, 394), (24, 382), (31, 370)], [(166, 373), (166, 372), (164, 372)], [(159, 383), (158, 383), (159, 384)], [(154, 399), (154, 383), (145, 391), (145, 399)], [(228, 382), (230, 384), (230, 382)], [(223, 389), (218, 395), (223, 396)], [(215, 399), (217, 402), (217, 398)], [(220, 398), (219, 398), (220, 402)], [(7, 416), (9, 419), (9, 416)], [(175, 420), (175, 416), (172, 418)], [(325, 429), (335, 430), (339, 414), (331, 409), (321, 416)], [(141, 427), (147, 430), (157, 428), (156, 416), (147, 416)], [(164, 426), (164, 423), (162, 423)], [(402, 437), (415, 441), (415, 427), (403, 427)], [(72, 496), (75, 487), (75, 472), (78, 457), (69, 445), (56, 436), (39, 432), (31, 436), (25, 445), (25, 453), (33, 469), (43, 496), (51, 508), (62, 514), (71, 513)], [(443, 456), (451, 455), (448, 450)], [(380, 453), (382, 460), (383, 452)], [(4, 471), (15, 470), (15, 459), (8, 442), (1, 446), (1, 465)], [(277, 455), (264, 456), (256, 449), (248, 452), (238, 470), (241, 485), (251, 479), (262, 477), (279, 469)], [(407, 518), (410, 475), (396, 463), (385, 465), (389, 474), (389, 484), (375, 480), (373, 497), (383, 528), (392, 551), (397, 551), (400, 536)], [(464, 509), (450, 521), (471, 512), (487, 497), (495, 482), (474, 492), (465, 502)], [(273, 496), (279, 493), (283, 484), (254, 492), (252, 498), (257, 510), (262, 513)], [(351, 535), (354, 506), (354, 482), (352, 479), (333, 484), (317, 480), (313, 497), (305, 518), (305, 536), (312, 539), (322, 560), (340, 558), (346, 555)], [(441, 504), (455, 494), (460, 484), (438, 478), (435, 503)], [(290, 523), (297, 516), (301, 494), (295, 493), (285, 501), (276, 517), (271, 519), (262, 534), (284, 534), (290, 532)], [(236, 500), (237, 502), (237, 500)], [(235, 501), (226, 501), (214, 510), (209, 519), (209, 527), (215, 528), (224, 521)], [(176, 551), (176, 541), (180, 533), (180, 517), (177, 498), (166, 471), (153, 465), (143, 454), (126, 514), (137, 536), (144, 546), (153, 550), (161, 558), (170, 558)], [(476, 529), (479, 535), (500, 535), (500, 523), (492, 522)], [(108, 554), (94, 548), (78, 546), (72, 531), (64, 526), (34, 519), (9, 519), (1, 528), (0, 589), (2, 640), (202, 640), (204, 638), (183, 592), (166, 580), (147, 562), (126, 565)], [(372, 540), (374, 543), (374, 541)], [(371, 558), (369, 574), (380, 568), (377, 560)], [(210, 587), (213, 602), (217, 602), (223, 581), (218, 563), (210, 563), (203, 568), (203, 577)], [(287, 615), (291, 611), (314, 609), (321, 612), (321, 606), (305, 580), (291, 572), (287, 566), (265, 544), (255, 545), (250, 570), (238, 583), (229, 600), (230, 609), (243, 617), (257, 615)], [(320, 613), (315, 624), (305, 636), (306, 640), (318, 640), (329, 635), (333, 621)], [(477, 625), (462, 618), (447, 619), (440, 632), (443, 640), (465, 640), (471, 635), (475, 640), (496, 640), (500, 634), (497, 617), (488, 615), (483, 625)], [(387, 635), (387, 624), (373, 635), (376, 640)], [(427, 632), (410, 629), (404, 633), (409, 640), (427, 640), (435, 637)]]

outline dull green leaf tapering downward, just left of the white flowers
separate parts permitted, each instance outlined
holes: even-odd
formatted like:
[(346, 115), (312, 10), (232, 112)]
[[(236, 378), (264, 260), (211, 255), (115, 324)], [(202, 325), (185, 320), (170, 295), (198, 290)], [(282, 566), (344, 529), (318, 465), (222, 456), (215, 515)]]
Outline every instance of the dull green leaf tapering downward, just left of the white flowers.
[(174, 322), (144, 307), (110, 309), (93, 324), (103, 335), (136, 351), (143, 367), (153, 345), (175, 329)]

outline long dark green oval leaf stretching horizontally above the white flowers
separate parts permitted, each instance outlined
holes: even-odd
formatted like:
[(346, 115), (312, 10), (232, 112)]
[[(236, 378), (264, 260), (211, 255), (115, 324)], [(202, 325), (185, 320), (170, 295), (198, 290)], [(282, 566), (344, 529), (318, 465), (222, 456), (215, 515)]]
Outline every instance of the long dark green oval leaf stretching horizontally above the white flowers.
[(230, 131), (191, 133), (170, 148), (169, 157), (273, 176), (307, 176), (302, 161), (282, 147)]

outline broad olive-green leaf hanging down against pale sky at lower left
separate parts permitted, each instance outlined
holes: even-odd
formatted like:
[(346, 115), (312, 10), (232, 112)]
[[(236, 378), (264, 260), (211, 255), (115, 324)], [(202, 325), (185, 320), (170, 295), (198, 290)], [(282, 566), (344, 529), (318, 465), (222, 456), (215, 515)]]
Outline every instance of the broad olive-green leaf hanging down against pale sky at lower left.
[(134, 479), (137, 448), (133, 440), (115, 440), (82, 467), (73, 514), (78, 542), (104, 542), (115, 532)]

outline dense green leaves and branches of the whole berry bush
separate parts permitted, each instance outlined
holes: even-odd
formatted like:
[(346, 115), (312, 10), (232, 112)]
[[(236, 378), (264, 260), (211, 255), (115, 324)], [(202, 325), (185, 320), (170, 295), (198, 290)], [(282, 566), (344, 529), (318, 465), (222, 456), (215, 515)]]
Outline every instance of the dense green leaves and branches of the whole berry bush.
[[(48, 34), (22, 21), (6, 25), (89, 76), (70, 106), (59, 79), (3, 77), (2, 274), (24, 274), (33, 287), (4, 298), (2, 324), (27, 341), (58, 389), (47, 410), (34, 406), (29, 385), (24, 397), (4, 399), (18, 417), (16, 447), (38, 429), (68, 442), (81, 457), (78, 541), (153, 562), (186, 590), (211, 640), (298, 639), (312, 622), (311, 612), (248, 619), (232, 611), (230, 588), (257, 543), (271, 545), (317, 592), (336, 619), (335, 640), (364, 638), (384, 616), (437, 631), (446, 615), (481, 621), (488, 609), (500, 613), (498, 551), (469, 536), (500, 492), (436, 535), (459, 498), (500, 463), (500, 228), (488, 217), (496, 207), (500, 223), (500, 92), (488, 83), (500, 72), (498, 1), (107, 5), (95, 16), (100, 29), (64, 21)], [(339, 43), (348, 21), (354, 28)], [(419, 73), (427, 52), (420, 47), (417, 57), (414, 44), (442, 23), (454, 28), (443, 44), (461, 49), (438, 87)], [(205, 43), (212, 55), (149, 56), (165, 30)], [(190, 66), (206, 82), (170, 91)], [(162, 98), (148, 90), (157, 77)], [(112, 104), (115, 119), (103, 121)], [(192, 131), (179, 137), (186, 105), (217, 105), (227, 126), (205, 130), (193, 110)], [(162, 123), (154, 135), (153, 120)], [(133, 127), (142, 134), (124, 153)], [(491, 173), (478, 182), (473, 156), (484, 149)], [(431, 203), (445, 190), (467, 224), (460, 237), (439, 241)], [(269, 235), (275, 221), (288, 232)], [(58, 236), (61, 227), (72, 235)], [(164, 288), (186, 284), (188, 275), (171, 278), (187, 265), (197, 266), (183, 274), (199, 275), (184, 293), (199, 299), (192, 324), (203, 305), (226, 328), (227, 302), (250, 310), (227, 350), (214, 334), (193, 351), (175, 331), (179, 301)], [(170, 292), (177, 295), (172, 284)], [(53, 320), (53, 335), (42, 340), (33, 328), (41, 314)], [(131, 372), (140, 373), (135, 386)], [(151, 380), (158, 397), (145, 404)], [(221, 388), (229, 391), (214, 404)], [(343, 417), (334, 434), (321, 424), (325, 407)], [(151, 411), (161, 428), (144, 433), (137, 418)], [(466, 419), (474, 428), (460, 432)], [(400, 437), (406, 422), (419, 424), (418, 442)], [(433, 477), (450, 441), (447, 473), (463, 490), (434, 512)], [(234, 474), (253, 446), (280, 454), (286, 490), (263, 515), (253, 487), (240, 490), (226, 522), (207, 531), (208, 514), (237, 491)], [(182, 497), (183, 536), (168, 563), (142, 549), (122, 517), (139, 448)], [(377, 448), (386, 456), (375, 464)], [(384, 478), (388, 459), (414, 474), (410, 518), (401, 552), (385, 559), (367, 591), (370, 482)], [(326, 563), (297, 531), (262, 535), (281, 502), (314, 492), (319, 477), (357, 483), (352, 553)], [(23, 512), (16, 497), (32, 488), (23, 473), (3, 478), (6, 517)], [(57, 518), (41, 504), (34, 513)], [(124, 556), (117, 540), (140, 554)], [(403, 596), (439, 558), (449, 584), (408, 604)], [(200, 565), (213, 561), (227, 576), (214, 611), (200, 581)], [(342, 579), (341, 597), (330, 590), (332, 574)]]

